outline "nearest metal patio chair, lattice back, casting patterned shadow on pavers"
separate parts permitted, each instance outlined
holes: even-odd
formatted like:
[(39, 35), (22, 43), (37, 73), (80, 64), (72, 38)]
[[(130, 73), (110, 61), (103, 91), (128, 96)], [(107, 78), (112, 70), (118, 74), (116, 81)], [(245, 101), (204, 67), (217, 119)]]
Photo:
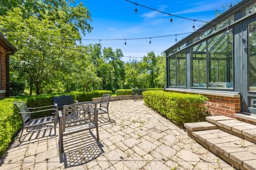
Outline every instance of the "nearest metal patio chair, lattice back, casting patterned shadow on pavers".
[(68, 106), (63, 106), (63, 111), (59, 111), (59, 139), (60, 151), (63, 153), (63, 136), (96, 129), (97, 141), (99, 141), (98, 130), (98, 109), (97, 102), (82, 102)]

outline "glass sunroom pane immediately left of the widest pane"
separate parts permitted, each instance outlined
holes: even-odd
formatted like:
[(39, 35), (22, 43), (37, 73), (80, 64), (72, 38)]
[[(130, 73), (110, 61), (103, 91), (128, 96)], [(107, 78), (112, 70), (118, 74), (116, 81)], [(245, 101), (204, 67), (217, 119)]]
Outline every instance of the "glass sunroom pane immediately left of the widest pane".
[(206, 42), (192, 47), (192, 87), (206, 87)]

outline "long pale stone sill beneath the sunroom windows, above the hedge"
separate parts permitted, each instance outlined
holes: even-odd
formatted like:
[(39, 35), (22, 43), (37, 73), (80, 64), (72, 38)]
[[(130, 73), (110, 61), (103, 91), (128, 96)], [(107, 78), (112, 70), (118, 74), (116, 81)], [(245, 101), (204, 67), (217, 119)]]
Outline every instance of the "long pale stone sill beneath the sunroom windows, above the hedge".
[(178, 88), (166, 88), (165, 90), (167, 90), (167, 91), (176, 91), (176, 92), (188, 92), (188, 93), (191, 93), (191, 94), (222, 96), (222, 97), (240, 97), (239, 92), (212, 91), (212, 90), (194, 90), (194, 89), (178, 89)]

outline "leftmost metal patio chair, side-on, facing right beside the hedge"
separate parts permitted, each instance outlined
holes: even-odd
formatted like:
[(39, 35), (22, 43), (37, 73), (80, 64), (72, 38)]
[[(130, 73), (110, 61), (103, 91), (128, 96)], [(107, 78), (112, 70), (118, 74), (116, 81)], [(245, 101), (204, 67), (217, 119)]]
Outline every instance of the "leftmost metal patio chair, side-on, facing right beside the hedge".
[[(57, 115), (58, 115), (58, 107), (57, 106), (51, 105), (51, 106), (43, 106), (43, 107), (36, 107), (36, 108), (28, 108), (23, 101), (14, 101), (14, 105), (18, 108), (19, 114), (21, 116), (22, 123), (23, 123), (19, 141), (22, 137), (22, 133), (23, 133), (24, 129), (32, 128), (34, 126), (49, 124), (49, 123), (54, 123), (54, 132), (56, 134)], [(50, 108), (50, 107), (52, 107), (52, 108)], [(42, 108), (48, 108), (48, 109), (30, 112), (30, 110), (42, 109)], [(49, 112), (49, 111), (53, 111), (54, 115), (48, 116), (48, 117), (31, 119), (31, 114), (33, 114), (33, 113), (42, 113), (42, 112)]]

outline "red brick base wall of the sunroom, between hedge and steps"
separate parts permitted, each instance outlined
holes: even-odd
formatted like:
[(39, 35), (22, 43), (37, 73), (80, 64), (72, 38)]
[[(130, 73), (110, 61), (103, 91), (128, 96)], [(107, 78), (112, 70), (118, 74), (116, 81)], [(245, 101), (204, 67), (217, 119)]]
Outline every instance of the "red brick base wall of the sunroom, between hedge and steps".
[(211, 115), (223, 115), (235, 118), (235, 113), (241, 112), (240, 97), (222, 97), (204, 95), (209, 99), (206, 106)]

